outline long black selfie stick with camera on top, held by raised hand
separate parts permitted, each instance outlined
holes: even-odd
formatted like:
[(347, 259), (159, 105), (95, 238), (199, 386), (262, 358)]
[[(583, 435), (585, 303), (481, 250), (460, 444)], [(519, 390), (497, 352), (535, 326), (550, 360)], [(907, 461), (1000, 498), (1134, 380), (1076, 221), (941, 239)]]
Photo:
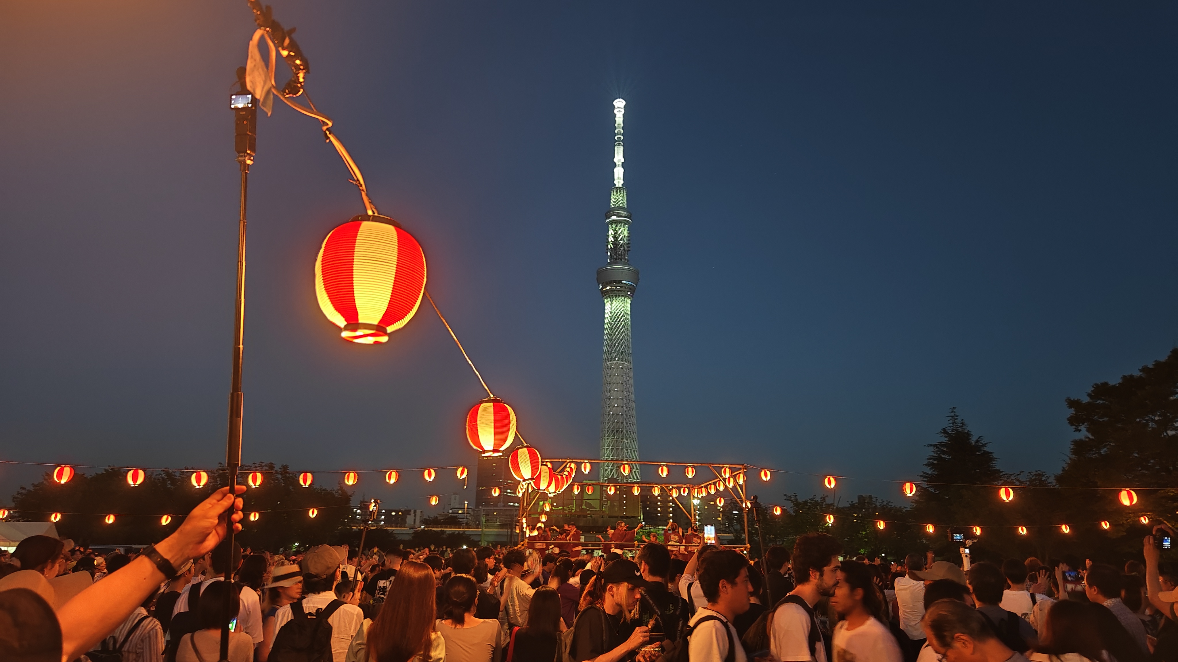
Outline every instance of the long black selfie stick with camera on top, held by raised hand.
[[(233, 147), (241, 171), (241, 197), (237, 224), (237, 292), (233, 305), (233, 373), (229, 395), (229, 435), (225, 442), (225, 468), (229, 470), (230, 495), (237, 495), (237, 470), (241, 465), (241, 358), (245, 338), (245, 200), (250, 181), (250, 164), (256, 153), (258, 108), (253, 95), (245, 86), (245, 67), (238, 67), (240, 90), (230, 98), (233, 108)], [(225, 547), (229, 558), (225, 563), (225, 582), (233, 581), (233, 509), (225, 512)], [(233, 610), (233, 595), (225, 591), (225, 613)], [(229, 621), (221, 625), (220, 662), (229, 662)]]

